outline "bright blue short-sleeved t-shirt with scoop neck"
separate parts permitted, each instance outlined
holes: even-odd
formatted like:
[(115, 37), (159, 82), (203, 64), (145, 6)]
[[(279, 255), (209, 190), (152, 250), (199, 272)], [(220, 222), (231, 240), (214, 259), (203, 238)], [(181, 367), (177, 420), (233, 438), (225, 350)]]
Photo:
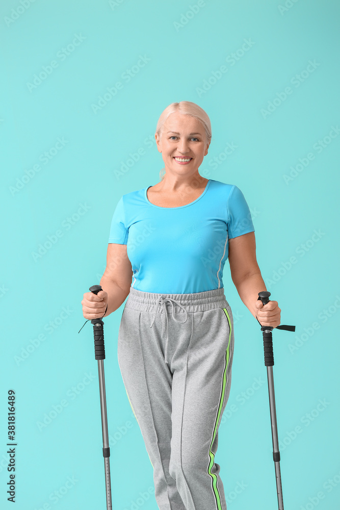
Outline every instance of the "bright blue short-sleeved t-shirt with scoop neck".
[(255, 230), (242, 191), (209, 179), (186, 206), (159, 207), (147, 198), (150, 187), (122, 195), (111, 222), (109, 243), (127, 244), (131, 286), (162, 294), (223, 287), (228, 240)]

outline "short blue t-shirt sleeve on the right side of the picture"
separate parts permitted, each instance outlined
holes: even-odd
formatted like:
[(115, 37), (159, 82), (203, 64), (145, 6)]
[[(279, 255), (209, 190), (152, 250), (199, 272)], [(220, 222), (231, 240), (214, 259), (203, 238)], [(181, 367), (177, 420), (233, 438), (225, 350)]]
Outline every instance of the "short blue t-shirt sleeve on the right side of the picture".
[(237, 186), (233, 186), (230, 191), (227, 209), (229, 214), (228, 237), (230, 239), (255, 231), (250, 209), (242, 191)]

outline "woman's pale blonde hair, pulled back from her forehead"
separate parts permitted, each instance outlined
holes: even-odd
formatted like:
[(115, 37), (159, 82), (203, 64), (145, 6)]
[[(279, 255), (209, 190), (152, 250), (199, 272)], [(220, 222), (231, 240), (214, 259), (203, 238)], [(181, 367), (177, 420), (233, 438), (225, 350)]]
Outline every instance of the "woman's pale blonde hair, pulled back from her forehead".
[[(156, 126), (156, 133), (162, 138), (164, 123), (172, 113), (181, 113), (184, 115), (190, 115), (191, 117), (195, 117), (198, 119), (204, 127), (206, 143), (211, 141), (212, 138), (212, 127), (210, 123), (210, 118), (206, 114), (206, 112), (200, 106), (196, 105), (196, 103), (192, 103), (191, 101), (180, 101), (179, 103), (171, 103), (171, 105), (167, 106), (165, 110), (161, 113), (160, 118), (158, 119)], [(163, 172), (164, 171), (164, 172)], [(162, 173), (163, 172), (163, 173)], [(165, 168), (162, 168), (160, 171), (160, 179), (163, 181), (165, 177)]]

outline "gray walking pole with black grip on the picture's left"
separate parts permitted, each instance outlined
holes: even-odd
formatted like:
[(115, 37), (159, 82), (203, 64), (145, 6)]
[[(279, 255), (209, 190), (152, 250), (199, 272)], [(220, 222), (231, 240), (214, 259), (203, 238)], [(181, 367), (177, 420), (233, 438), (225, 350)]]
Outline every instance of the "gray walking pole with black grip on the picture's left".
[[(102, 290), (100, 285), (93, 285), (89, 289), (93, 294), (98, 294)], [(99, 375), (99, 394), (100, 394), (100, 412), (101, 412), (101, 429), (102, 429), (102, 443), (103, 443), (103, 457), (105, 467), (105, 483), (106, 483), (106, 507), (107, 510), (112, 509), (111, 502), (111, 477), (110, 477), (110, 446), (109, 446), (109, 433), (108, 433), (108, 415), (106, 409), (106, 392), (105, 392), (105, 378), (104, 378), (104, 359), (105, 359), (105, 346), (104, 346), (104, 329), (103, 321), (101, 319), (92, 319), (93, 335), (94, 335), (94, 353), (95, 359), (98, 361), (98, 375)]]

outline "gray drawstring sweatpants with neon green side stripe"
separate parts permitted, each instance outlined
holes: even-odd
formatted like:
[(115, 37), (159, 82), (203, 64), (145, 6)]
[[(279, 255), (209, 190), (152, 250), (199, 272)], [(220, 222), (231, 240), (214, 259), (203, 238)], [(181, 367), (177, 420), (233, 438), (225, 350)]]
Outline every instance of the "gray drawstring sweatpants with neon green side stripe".
[(160, 510), (226, 510), (215, 453), (233, 348), (223, 288), (194, 294), (130, 288), (118, 363)]

